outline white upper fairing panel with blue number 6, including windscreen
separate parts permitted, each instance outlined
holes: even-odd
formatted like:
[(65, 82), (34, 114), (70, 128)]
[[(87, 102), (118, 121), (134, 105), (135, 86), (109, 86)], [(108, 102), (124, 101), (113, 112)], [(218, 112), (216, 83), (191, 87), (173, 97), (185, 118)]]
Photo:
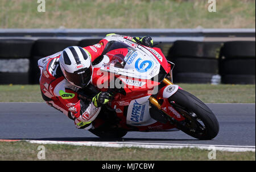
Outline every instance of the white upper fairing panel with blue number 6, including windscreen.
[[(154, 54), (135, 42), (129, 45), (127, 42), (114, 41), (105, 55), (110, 60), (109, 63), (102, 65), (101, 70), (118, 75), (152, 79), (159, 74), (161, 69), (161, 64)], [(166, 71), (164, 72), (167, 74)]]

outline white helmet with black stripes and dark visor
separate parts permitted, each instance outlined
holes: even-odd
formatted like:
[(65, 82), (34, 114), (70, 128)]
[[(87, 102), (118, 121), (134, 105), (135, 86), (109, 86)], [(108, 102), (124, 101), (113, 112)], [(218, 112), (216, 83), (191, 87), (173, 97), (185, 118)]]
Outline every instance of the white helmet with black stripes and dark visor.
[(60, 68), (65, 78), (79, 88), (84, 88), (92, 78), (92, 61), (89, 53), (80, 46), (69, 46), (60, 55)]

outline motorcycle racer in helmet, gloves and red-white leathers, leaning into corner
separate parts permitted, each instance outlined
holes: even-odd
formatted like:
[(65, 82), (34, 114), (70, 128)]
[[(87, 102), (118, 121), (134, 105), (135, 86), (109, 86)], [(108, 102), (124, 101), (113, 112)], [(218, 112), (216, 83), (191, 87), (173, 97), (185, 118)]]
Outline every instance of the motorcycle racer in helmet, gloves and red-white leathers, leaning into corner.
[[(152, 46), (151, 37), (129, 37), (110, 33), (98, 44), (81, 48), (69, 46), (63, 51), (39, 59), (40, 89), (43, 100), (75, 122), (76, 128), (89, 130), (111, 94), (100, 92), (92, 84), (93, 69), (99, 67), (102, 54), (110, 41), (131, 40)], [(82, 90), (86, 96), (80, 96)]]

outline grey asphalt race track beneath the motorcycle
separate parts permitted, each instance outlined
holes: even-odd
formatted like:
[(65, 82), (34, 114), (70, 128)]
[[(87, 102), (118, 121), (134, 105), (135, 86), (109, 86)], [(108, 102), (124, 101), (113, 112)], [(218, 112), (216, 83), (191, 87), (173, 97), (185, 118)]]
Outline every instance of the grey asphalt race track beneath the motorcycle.
[[(122, 141), (255, 146), (255, 104), (208, 104), (220, 123), (213, 140), (174, 132), (129, 132)], [(0, 139), (104, 141), (78, 130), (68, 117), (45, 103), (0, 103)], [(115, 140), (114, 140), (115, 141)]]

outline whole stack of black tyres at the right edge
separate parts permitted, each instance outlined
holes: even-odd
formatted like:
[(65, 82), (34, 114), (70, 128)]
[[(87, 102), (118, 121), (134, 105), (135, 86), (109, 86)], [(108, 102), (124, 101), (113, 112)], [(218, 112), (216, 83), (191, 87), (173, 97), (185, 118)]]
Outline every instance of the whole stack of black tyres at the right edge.
[(220, 51), (224, 84), (255, 84), (255, 41), (225, 42)]

